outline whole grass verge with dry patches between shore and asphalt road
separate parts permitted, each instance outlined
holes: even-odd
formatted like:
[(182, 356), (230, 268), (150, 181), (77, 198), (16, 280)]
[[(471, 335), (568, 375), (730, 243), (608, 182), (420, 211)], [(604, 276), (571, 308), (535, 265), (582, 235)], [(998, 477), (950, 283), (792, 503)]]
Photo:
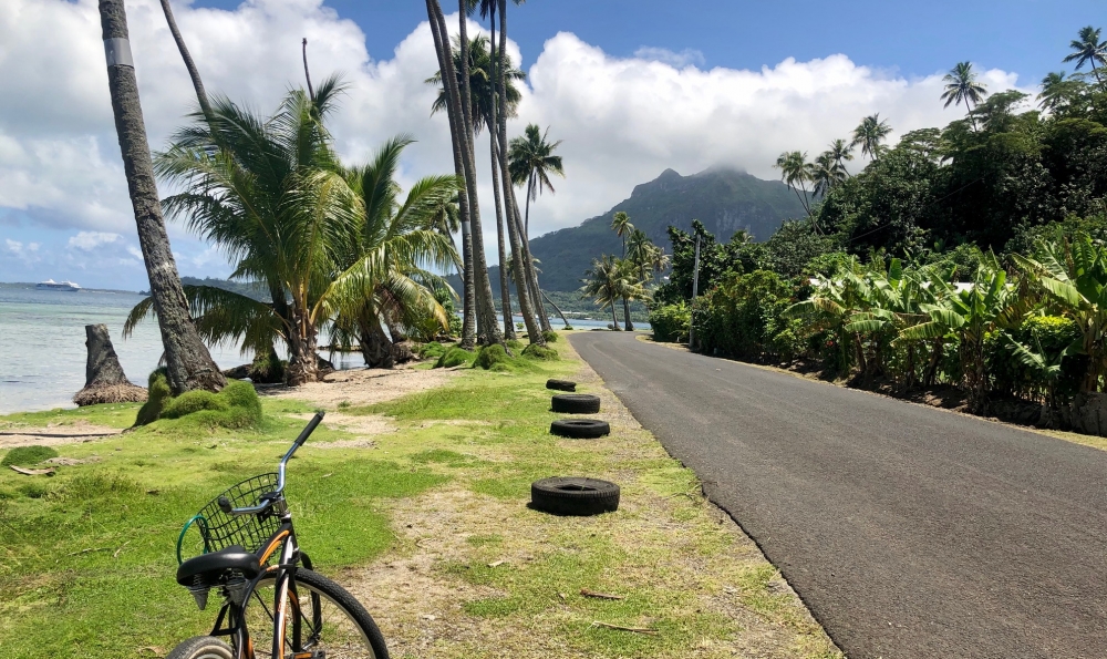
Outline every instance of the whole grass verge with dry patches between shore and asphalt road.
[[(370, 605), (374, 614), (393, 607), (381, 616), (391, 620), (385, 636), (408, 648), (393, 656), (714, 659), (738, 648), (758, 656), (838, 657), (798, 599), (769, 587), (779, 578), (773, 566), (708, 514), (694, 475), (648, 433), (617, 428), (591, 442), (549, 434), (559, 415), (550, 411), (545, 381), (577, 379), (580, 368), (570, 346), (559, 344), (559, 352), (560, 361), (516, 357), (488, 371), (463, 369), (443, 387), (385, 403), (339, 403), (343, 415), (385, 415), (396, 432), (375, 437), (372, 450), (313, 447), (355, 436), (329, 422), (289, 465), (297, 529), (321, 572), (349, 566), (335, 575), (341, 581), (358, 578), (360, 566), (374, 559), (374, 575), (387, 575), (393, 564), (401, 569), (392, 574), (400, 575), (431, 566), (430, 585), (407, 588), (406, 576), (391, 581), (401, 604)], [(53, 478), (0, 473), (0, 639), (7, 656), (135, 657), (138, 648), (168, 650), (206, 631), (214, 607), (197, 611), (174, 581), (174, 544), (180, 525), (219, 492), (272, 470), (313, 411), (290, 399), (262, 399), (262, 406), (265, 421), (255, 429), (161, 420), (60, 446), (64, 456), (95, 453), (101, 461), (61, 466)], [(101, 408), (0, 418), (0, 428), (126, 428), (137, 410)], [(623, 504), (590, 518), (528, 508), (530, 483), (558, 474), (614, 480)], [(421, 538), (447, 548), (428, 550)], [(199, 550), (198, 539), (188, 536), (186, 554)], [(405, 559), (413, 559), (408, 568)], [(623, 599), (589, 598), (581, 589)], [(457, 599), (456, 593), (467, 595)], [(727, 607), (718, 606), (723, 599)], [(746, 611), (742, 625), (728, 607)], [(448, 620), (430, 648), (421, 636), (426, 612)], [(658, 634), (592, 626), (597, 620)], [(757, 629), (747, 642), (743, 635), (751, 627)], [(452, 636), (452, 629), (463, 631)]]

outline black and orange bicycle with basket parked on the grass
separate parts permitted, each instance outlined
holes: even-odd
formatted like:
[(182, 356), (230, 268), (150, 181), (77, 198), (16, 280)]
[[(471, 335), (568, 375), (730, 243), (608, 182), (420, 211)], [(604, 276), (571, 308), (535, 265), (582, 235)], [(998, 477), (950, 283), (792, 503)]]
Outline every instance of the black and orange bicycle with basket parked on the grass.
[[(284, 500), (288, 461), (322, 419), (320, 412), (308, 422), (276, 473), (232, 485), (180, 531), (177, 583), (192, 591), (200, 610), (213, 589), (223, 605), (209, 635), (180, 642), (166, 659), (387, 659), (384, 637), (364, 607), (312, 570)], [(193, 524), (204, 554), (182, 560)], [(262, 627), (271, 635), (251, 635)]]

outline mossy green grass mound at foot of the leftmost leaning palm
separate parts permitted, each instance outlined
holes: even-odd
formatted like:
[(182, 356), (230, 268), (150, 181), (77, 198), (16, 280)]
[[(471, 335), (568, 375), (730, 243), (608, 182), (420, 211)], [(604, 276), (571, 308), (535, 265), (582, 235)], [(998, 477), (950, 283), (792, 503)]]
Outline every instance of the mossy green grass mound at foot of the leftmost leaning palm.
[(151, 373), (149, 398), (138, 410), (135, 425), (186, 416), (208, 428), (252, 428), (261, 422), (261, 401), (254, 385), (240, 380), (229, 381), (219, 393), (197, 390), (173, 397), (165, 371)]

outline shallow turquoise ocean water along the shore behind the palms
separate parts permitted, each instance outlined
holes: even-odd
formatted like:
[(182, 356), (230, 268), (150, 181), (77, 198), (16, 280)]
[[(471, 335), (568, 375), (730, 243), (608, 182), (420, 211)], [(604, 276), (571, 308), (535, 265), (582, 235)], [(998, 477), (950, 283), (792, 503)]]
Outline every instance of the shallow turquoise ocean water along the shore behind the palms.
[[(84, 387), (86, 325), (107, 326), (127, 378), (145, 387), (146, 378), (162, 357), (157, 322), (148, 320), (130, 338), (122, 336), (123, 321), (143, 297), (130, 292), (70, 292), (0, 285), (0, 414), (75, 406), (71, 399)], [(555, 327), (560, 326), (556, 318), (550, 321)], [(601, 321), (571, 322), (578, 328), (606, 327)], [(252, 359), (235, 346), (210, 349), (223, 369)], [(365, 365), (360, 353), (324, 352), (323, 357), (339, 369)]]

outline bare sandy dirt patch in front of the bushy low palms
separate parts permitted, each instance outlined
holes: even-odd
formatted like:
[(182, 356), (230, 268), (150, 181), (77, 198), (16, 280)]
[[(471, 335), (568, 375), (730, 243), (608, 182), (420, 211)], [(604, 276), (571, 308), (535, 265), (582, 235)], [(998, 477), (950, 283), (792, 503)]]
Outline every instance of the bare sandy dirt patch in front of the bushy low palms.
[(354, 406), (381, 403), (408, 393), (441, 387), (456, 372), (445, 369), (416, 370), (405, 364), (395, 369), (359, 369), (335, 371), (322, 382), (311, 382), (301, 387), (277, 387), (259, 390), (262, 395), (291, 398), (337, 409), (346, 403)]

